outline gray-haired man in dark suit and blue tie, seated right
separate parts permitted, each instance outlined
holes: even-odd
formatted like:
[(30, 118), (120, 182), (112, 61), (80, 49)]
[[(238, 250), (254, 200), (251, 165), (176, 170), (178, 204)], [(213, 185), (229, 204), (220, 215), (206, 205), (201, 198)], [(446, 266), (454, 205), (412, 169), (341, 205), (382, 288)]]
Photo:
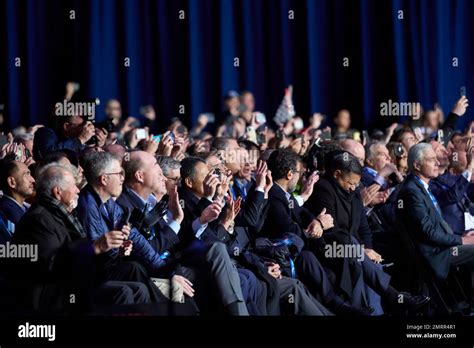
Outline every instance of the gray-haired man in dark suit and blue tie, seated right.
[(474, 268), (474, 230), (462, 236), (453, 233), (441, 214), (429, 183), (439, 175), (433, 147), (419, 143), (408, 153), (410, 174), (398, 194), (397, 218), (402, 222), (420, 254), (434, 274), (445, 279), (449, 268)]

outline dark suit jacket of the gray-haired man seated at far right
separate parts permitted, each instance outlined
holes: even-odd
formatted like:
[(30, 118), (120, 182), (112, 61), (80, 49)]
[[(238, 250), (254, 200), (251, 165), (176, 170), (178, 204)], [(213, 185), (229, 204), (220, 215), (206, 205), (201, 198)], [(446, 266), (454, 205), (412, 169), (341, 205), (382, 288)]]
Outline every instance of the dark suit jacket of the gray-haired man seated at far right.
[(450, 248), (461, 245), (461, 237), (453, 234), (438, 214), (423, 185), (413, 175), (409, 175), (402, 184), (398, 202), (397, 218), (435, 275), (446, 278), (450, 266)]

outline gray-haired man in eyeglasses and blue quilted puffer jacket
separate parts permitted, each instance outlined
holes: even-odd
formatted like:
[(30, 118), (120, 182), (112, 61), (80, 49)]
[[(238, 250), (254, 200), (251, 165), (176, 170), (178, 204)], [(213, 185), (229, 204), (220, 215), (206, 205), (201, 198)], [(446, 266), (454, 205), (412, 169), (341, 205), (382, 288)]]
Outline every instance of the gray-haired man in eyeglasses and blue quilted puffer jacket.
[[(120, 161), (107, 152), (90, 152), (84, 158), (85, 176), (88, 185), (81, 191), (78, 217), (89, 239), (96, 240), (108, 231), (123, 230), (128, 224), (123, 209), (115, 202), (123, 189), (125, 172)], [(118, 249), (108, 252), (106, 277), (110, 280), (139, 281), (147, 285), (156, 302), (167, 302), (149, 279), (150, 275), (168, 277), (169, 270), (161, 255), (137, 231), (123, 235), (123, 242), (133, 243), (131, 257), (136, 261), (116, 262)]]

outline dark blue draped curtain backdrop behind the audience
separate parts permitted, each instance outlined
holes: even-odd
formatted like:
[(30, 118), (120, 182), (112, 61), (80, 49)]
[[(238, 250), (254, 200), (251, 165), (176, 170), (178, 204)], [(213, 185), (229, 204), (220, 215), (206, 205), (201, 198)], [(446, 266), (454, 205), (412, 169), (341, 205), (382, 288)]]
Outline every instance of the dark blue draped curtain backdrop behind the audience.
[(189, 124), (230, 89), (273, 116), (293, 84), (298, 114), (347, 107), (384, 127), (389, 99), (448, 111), (466, 86), (474, 100), (473, 17), (469, 0), (1, 0), (0, 104), (8, 126), (45, 123), (74, 80), (99, 119), (118, 98), (125, 115), (155, 105), (162, 125), (184, 105)]

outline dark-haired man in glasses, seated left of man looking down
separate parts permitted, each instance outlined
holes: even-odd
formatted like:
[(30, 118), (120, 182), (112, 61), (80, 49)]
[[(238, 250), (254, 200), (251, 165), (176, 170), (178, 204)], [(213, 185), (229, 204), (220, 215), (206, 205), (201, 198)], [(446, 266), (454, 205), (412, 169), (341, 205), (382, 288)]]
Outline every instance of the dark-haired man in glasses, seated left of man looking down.
[(301, 178), (300, 157), (290, 150), (275, 150), (268, 159), (275, 184), (268, 194), (262, 234), (280, 239), (285, 233), (293, 233), (305, 242), (305, 248), (295, 260), (296, 274), (311, 293), (336, 314), (370, 315), (371, 308), (353, 307), (336, 295), (326, 270), (320, 264), (314, 250), (319, 249), (319, 238), (324, 229), (333, 225), (332, 217), (320, 211), (316, 217), (303, 204), (313, 194), (313, 186), (318, 179), (312, 179), (304, 185), (302, 197), (293, 197), (297, 183)]

